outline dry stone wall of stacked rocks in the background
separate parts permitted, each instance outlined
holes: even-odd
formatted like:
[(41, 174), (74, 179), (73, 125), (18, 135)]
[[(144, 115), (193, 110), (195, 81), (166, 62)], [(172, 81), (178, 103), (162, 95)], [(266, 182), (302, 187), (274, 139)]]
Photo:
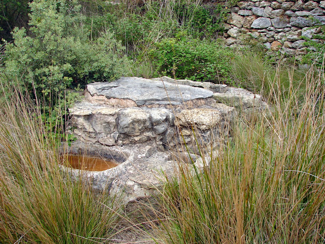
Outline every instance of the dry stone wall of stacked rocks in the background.
[[(302, 55), (315, 51), (306, 40), (324, 43), (325, 1), (241, 1), (232, 8), (224, 24), (225, 42), (230, 46), (262, 43), (283, 54)], [(315, 36), (316, 34), (320, 34)]]

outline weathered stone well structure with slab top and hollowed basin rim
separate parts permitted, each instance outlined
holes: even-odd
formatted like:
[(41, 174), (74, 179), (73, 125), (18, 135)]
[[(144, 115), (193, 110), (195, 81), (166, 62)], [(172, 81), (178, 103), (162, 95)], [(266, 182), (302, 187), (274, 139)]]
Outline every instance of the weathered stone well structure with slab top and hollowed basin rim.
[[(217, 153), (231, 134), (236, 107), (267, 107), (261, 96), (244, 89), (169, 77), (92, 83), (84, 95), (69, 109), (78, 140), (68, 150), (98, 151), (104, 158), (120, 151), (117, 167), (86, 177), (96, 190), (123, 191), (125, 203), (154, 194), (161, 179), (177, 171), (176, 157), (188, 167), (209, 164), (197, 144), (212, 145)], [(70, 171), (80, 176), (79, 170)]]

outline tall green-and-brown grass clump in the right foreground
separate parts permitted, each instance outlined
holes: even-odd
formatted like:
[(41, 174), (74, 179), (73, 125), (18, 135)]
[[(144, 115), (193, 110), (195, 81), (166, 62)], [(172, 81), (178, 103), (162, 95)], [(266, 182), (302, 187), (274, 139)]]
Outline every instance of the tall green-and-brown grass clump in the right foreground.
[(275, 77), (270, 116), (239, 117), (210, 167), (168, 180), (167, 243), (325, 242), (324, 72), (286, 95)]

